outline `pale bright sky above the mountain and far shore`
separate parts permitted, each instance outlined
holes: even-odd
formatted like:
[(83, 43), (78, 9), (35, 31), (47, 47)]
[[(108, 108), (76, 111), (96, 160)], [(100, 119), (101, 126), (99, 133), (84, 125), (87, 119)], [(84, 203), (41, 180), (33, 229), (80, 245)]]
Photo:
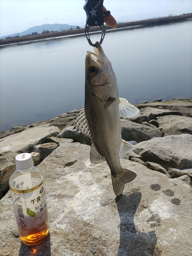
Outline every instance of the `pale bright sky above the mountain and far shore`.
[[(0, 0), (0, 37), (43, 24), (84, 27), (84, 0)], [(192, 12), (192, 0), (104, 0), (117, 22)]]

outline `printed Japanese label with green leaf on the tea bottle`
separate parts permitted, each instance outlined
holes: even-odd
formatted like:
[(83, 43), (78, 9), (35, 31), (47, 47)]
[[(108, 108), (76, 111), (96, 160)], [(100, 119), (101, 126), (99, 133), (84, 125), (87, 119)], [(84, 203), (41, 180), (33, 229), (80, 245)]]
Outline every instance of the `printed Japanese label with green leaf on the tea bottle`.
[(44, 181), (39, 185), (37, 189), (29, 193), (25, 193), (25, 191), (31, 189), (20, 191), (11, 189), (17, 226), (22, 231), (23, 236), (27, 234), (27, 231), (36, 230), (43, 226), (48, 218)]

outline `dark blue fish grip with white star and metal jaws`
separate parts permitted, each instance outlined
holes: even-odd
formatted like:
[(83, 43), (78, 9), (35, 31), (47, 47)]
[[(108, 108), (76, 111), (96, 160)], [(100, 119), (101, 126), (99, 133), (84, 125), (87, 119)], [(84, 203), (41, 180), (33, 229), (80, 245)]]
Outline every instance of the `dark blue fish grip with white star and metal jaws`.
[(104, 18), (103, 15), (110, 15), (110, 11), (106, 11), (103, 14), (103, 0), (86, 0), (86, 3), (83, 6), (83, 9), (86, 11), (87, 14), (87, 20), (86, 20), (86, 26), (84, 28), (84, 33), (86, 34), (87, 40), (90, 44), (90, 46), (96, 47), (95, 44), (92, 43), (90, 35), (89, 35), (89, 28), (99, 26), (102, 33), (101, 33), (101, 39), (100, 44), (102, 44), (102, 41), (105, 36), (105, 27), (104, 27)]

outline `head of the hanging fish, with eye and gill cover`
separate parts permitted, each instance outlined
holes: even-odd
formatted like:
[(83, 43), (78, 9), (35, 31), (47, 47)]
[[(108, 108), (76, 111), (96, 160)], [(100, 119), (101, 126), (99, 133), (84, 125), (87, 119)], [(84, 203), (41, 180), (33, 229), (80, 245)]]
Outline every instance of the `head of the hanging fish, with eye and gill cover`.
[(101, 101), (118, 98), (118, 87), (111, 62), (99, 42), (86, 55), (86, 89)]

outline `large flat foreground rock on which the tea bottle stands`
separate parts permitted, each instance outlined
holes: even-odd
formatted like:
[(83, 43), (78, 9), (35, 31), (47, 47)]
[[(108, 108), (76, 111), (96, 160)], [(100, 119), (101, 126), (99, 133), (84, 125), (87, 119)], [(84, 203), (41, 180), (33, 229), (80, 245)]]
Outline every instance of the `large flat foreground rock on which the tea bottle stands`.
[(190, 255), (191, 187), (123, 159), (137, 177), (115, 198), (108, 165), (91, 164), (89, 152), (61, 144), (40, 163), (51, 230), (40, 245), (20, 242), (10, 193), (0, 201), (0, 255)]

